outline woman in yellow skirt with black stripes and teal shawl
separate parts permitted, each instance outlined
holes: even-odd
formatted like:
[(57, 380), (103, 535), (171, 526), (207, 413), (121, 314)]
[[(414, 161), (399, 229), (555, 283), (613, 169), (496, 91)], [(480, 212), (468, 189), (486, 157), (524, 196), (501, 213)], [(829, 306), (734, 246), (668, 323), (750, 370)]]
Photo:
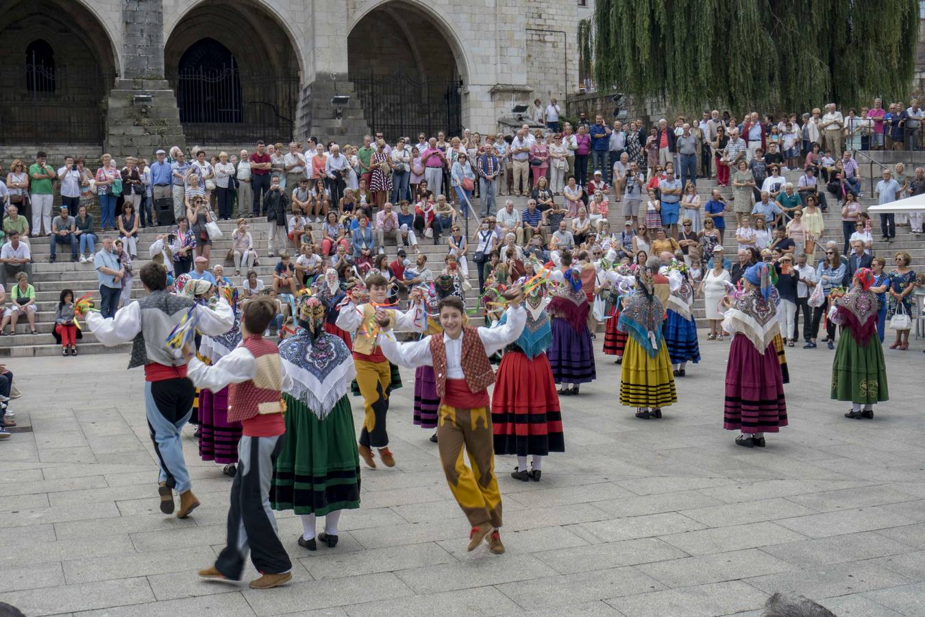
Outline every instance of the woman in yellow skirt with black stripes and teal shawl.
[(636, 417), (660, 418), (661, 408), (678, 400), (672, 361), (662, 336), (665, 309), (655, 295), (654, 272), (636, 270), (635, 290), (624, 301), (617, 329), (626, 332), (620, 402), (636, 408)]

